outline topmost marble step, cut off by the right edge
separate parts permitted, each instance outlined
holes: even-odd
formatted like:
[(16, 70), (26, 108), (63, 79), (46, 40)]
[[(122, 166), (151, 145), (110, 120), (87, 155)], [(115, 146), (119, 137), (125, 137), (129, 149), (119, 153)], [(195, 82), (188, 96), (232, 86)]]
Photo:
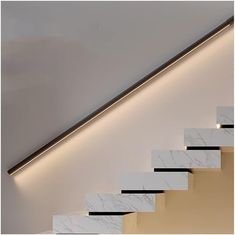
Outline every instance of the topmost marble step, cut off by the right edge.
[(216, 123), (220, 125), (234, 124), (234, 107), (217, 107), (216, 109)]

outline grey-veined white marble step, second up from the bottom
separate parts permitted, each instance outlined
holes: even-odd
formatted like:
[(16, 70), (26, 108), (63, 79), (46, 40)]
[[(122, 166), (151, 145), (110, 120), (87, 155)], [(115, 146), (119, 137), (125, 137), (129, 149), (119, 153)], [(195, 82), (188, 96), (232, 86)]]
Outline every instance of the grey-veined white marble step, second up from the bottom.
[(90, 212), (155, 211), (155, 194), (88, 194), (86, 206)]

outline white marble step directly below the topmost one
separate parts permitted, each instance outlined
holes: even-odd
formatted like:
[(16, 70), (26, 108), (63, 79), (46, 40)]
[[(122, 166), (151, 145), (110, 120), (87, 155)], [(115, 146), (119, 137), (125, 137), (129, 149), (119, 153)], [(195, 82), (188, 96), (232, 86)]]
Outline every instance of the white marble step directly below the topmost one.
[(189, 128), (184, 131), (185, 146), (232, 147), (233, 140), (233, 128)]

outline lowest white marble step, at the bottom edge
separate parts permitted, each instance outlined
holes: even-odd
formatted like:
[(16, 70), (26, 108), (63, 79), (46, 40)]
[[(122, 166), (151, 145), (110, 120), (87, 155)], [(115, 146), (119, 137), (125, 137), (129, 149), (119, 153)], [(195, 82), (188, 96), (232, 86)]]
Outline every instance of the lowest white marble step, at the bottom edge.
[(122, 216), (54, 215), (54, 233), (122, 233)]

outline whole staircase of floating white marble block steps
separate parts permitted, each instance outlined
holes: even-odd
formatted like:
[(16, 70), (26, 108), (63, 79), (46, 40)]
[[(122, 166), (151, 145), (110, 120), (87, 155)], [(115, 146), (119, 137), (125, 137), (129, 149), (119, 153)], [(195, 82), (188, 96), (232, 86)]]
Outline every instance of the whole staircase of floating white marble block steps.
[(185, 150), (153, 150), (153, 172), (122, 175), (119, 194), (88, 194), (85, 199), (88, 214), (53, 216), (53, 232), (124, 233), (125, 215), (165, 213), (166, 191), (193, 192), (194, 170), (220, 170), (221, 152), (233, 152), (233, 107), (217, 108), (216, 126), (185, 129)]

